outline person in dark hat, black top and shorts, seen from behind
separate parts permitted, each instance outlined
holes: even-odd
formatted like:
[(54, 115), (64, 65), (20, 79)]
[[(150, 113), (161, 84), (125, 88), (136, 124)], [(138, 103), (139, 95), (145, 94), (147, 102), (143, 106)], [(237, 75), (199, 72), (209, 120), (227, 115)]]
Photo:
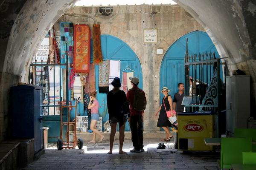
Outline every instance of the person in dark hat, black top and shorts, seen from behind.
[[(109, 137), (110, 149), (108, 154), (111, 154), (113, 150), (117, 122), (119, 124), (119, 153), (126, 153), (122, 150), (125, 139), (126, 115), (122, 114), (121, 111), (124, 110), (123, 107), (124, 103), (127, 102), (127, 98), (125, 92), (119, 89), (121, 87), (121, 82), (118, 77), (115, 77), (111, 84), (114, 86), (114, 88), (113, 90), (109, 91), (107, 95), (109, 121), (111, 123), (111, 133)], [(129, 105), (127, 105), (127, 111), (129, 110), (128, 107)]]

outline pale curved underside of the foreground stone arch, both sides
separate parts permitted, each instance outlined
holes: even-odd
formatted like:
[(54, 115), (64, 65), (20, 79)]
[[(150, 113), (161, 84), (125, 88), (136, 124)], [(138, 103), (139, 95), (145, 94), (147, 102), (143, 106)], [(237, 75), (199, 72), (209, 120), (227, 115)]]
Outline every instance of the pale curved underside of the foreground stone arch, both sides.
[[(224, 3), (218, 0), (212, 4), (210, 0), (204, 3), (175, 1), (201, 23), (217, 46), (220, 55), (229, 57), (231, 63), (238, 63), (243, 59), (253, 57), (250, 57), (250, 39), (238, 2), (225, 1)], [(35, 49), (47, 30), (75, 2), (76, 0), (27, 1), (12, 26), (2, 72), (24, 75), (25, 68), (30, 63), (29, 58), (35, 54)], [(219, 8), (225, 9), (223, 10), (225, 12), (216, 12), (220, 10)], [(224, 17), (228, 17), (230, 24), (225, 23)], [(217, 27), (216, 24), (218, 24)]]

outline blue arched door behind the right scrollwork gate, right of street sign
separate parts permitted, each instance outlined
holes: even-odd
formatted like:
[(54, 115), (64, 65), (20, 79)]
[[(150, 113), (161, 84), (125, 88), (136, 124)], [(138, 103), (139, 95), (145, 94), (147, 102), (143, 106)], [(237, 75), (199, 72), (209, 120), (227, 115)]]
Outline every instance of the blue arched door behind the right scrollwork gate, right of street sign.
[[(176, 40), (166, 51), (160, 68), (160, 90), (164, 86), (168, 87), (172, 98), (178, 91), (177, 84), (185, 84), (184, 56), (187, 38), (189, 54), (215, 51), (216, 57), (219, 56), (215, 45), (204, 31), (192, 31)], [(160, 101), (162, 98), (163, 94), (160, 94)]]

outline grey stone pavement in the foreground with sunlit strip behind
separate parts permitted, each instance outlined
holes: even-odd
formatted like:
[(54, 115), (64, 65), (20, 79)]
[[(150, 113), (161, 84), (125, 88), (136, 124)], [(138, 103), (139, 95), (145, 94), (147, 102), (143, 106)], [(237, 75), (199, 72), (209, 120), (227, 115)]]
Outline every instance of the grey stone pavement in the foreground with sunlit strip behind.
[(91, 144), (79, 149), (56, 150), (49, 147), (38, 161), (22, 170), (216, 170), (219, 153), (183, 153), (173, 149), (173, 142), (165, 142), (170, 148), (157, 150), (156, 139), (145, 139), (144, 153), (129, 153), (130, 140), (125, 140), (123, 150), (118, 154), (115, 141), (113, 154), (107, 154), (108, 143)]

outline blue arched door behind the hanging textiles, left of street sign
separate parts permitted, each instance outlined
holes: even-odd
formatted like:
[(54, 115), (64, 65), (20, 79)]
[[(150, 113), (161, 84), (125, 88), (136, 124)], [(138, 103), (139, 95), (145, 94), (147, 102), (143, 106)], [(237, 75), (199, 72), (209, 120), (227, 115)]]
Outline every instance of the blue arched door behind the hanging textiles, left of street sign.
[[(109, 59), (109, 60), (121, 61), (120, 79), (122, 80), (122, 71), (129, 66), (129, 68), (134, 71), (134, 76), (140, 79), (140, 83), (138, 87), (143, 88), (142, 68), (141, 68), (140, 60), (138, 59), (134, 51), (119, 38), (111, 35), (107, 35), (107, 34), (101, 35), (101, 46), (102, 46), (103, 60)], [(93, 48), (91, 48), (90, 54), (91, 54), (90, 62), (93, 62), (93, 57), (92, 57)], [(98, 72), (99, 72), (98, 65), (95, 65), (96, 91), (99, 91)], [(98, 93), (97, 99), (99, 100), (99, 115), (102, 116), (102, 124), (104, 125), (104, 123), (108, 120), (107, 94)], [(128, 123), (126, 123), (125, 125), (125, 130), (126, 131), (130, 130)]]

